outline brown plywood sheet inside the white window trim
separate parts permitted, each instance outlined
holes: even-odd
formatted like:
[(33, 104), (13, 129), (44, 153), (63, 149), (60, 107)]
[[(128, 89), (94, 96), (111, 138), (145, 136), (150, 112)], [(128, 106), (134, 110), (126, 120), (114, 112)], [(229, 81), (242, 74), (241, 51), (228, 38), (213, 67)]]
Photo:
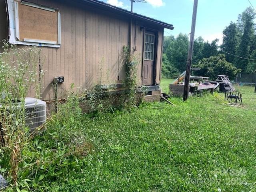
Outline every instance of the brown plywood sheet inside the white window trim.
[[(58, 12), (19, 4), (20, 40), (58, 42)], [(24, 40), (25, 39), (25, 40)]]

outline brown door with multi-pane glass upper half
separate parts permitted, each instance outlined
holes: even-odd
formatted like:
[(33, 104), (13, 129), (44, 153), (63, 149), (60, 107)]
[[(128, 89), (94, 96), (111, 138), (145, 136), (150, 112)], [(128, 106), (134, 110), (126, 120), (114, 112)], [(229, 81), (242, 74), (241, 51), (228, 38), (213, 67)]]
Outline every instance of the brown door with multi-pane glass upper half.
[(146, 32), (144, 39), (143, 80), (144, 85), (154, 84), (155, 34)]

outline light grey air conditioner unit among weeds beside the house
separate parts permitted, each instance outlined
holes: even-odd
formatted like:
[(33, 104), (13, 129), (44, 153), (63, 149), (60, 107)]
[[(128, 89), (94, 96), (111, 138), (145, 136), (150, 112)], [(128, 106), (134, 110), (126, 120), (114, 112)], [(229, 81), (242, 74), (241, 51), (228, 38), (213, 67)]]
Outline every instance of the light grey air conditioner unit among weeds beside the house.
[(26, 125), (33, 132), (46, 122), (46, 102), (27, 97), (25, 98)]

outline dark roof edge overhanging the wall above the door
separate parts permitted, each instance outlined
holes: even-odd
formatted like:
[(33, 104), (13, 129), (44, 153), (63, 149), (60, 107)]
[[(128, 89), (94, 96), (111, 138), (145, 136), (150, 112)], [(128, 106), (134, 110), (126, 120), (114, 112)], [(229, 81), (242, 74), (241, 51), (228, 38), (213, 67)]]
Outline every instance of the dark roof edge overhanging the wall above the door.
[(134, 13), (134, 12), (130, 12), (128, 10), (125, 10), (125, 9), (107, 4), (107, 3), (99, 1), (99, 0), (81, 0), (81, 1), (88, 2), (90, 4), (94, 4), (96, 6), (100, 6), (102, 8), (109, 9), (111, 11), (116, 11), (120, 14), (126, 14), (126, 15), (129, 15), (129, 16), (132, 16), (133, 18), (139, 18), (139, 19), (142, 19), (142, 20), (146, 20), (148, 22), (152, 22), (154, 24), (158, 24), (160, 26), (163, 26), (164, 28), (167, 28), (167, 29), (171, 29), (171, 30), (174, 29), (174, 26), (172, 24), (168, 24), (166, 22), (162, 22), (162, 21), (159, 21), (159, 20), (144, 16), (144, 15), (140, 15), (140, 14), (137, 14), (137, 13)]

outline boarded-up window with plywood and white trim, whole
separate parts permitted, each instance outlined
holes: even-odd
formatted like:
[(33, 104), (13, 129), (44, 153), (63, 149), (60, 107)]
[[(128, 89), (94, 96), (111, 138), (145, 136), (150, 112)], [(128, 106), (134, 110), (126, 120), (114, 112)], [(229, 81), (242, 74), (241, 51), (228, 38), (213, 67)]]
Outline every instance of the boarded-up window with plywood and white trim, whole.
[[(60, 47), (60, 11), (25, 1), (8, 1), (8, 9), (13, 4), (14, 12), (9, 10), (10, 43), (36, 46)], [(13, 18), (13, 19), (12, 19)]]

